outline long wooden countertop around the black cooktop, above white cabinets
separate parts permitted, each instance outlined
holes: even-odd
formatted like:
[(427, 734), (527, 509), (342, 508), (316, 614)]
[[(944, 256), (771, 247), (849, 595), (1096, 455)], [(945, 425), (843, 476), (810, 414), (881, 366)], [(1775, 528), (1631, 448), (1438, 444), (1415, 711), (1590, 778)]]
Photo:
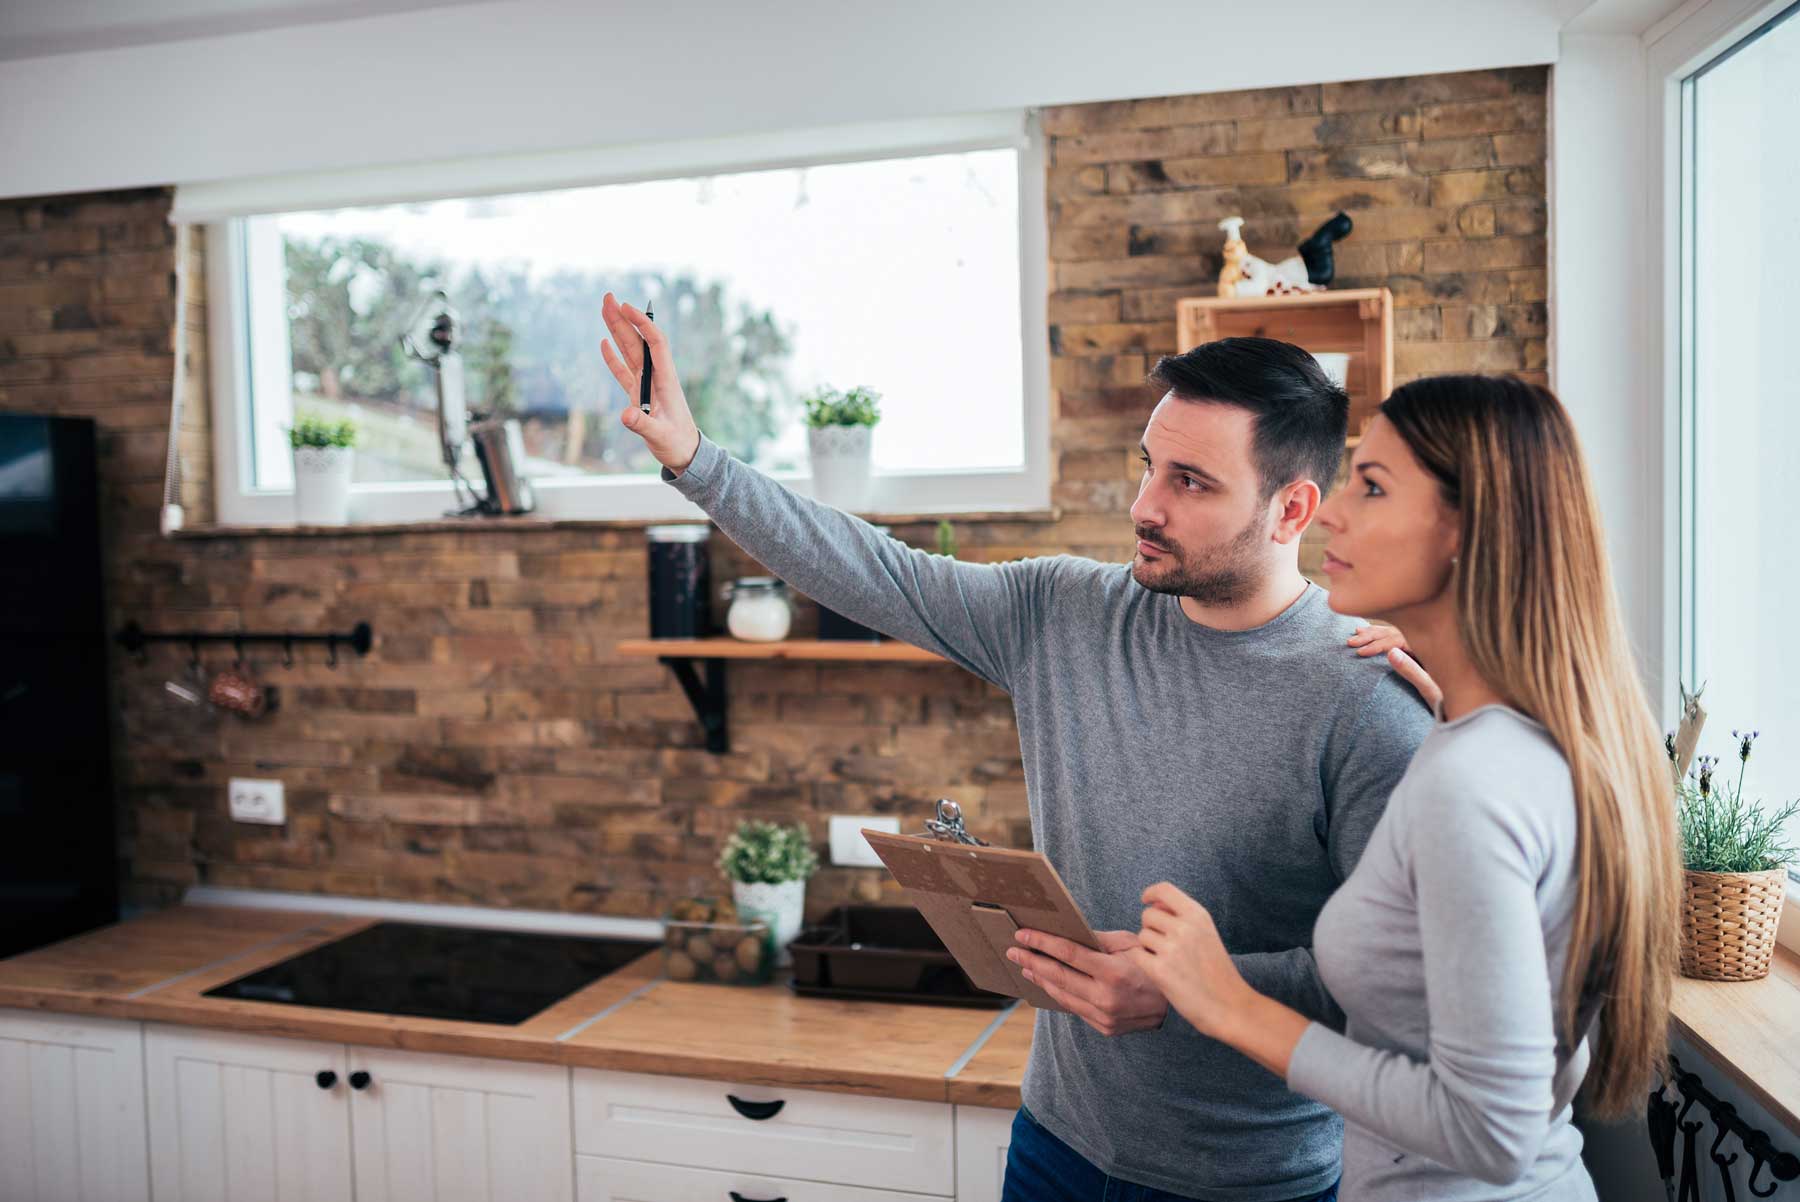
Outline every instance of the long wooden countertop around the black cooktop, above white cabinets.
[[(824, 1000), (797, 997), (785, 984), (677, 982), (661, 977), (661, 952), (518, 1026), (205, 997), (373, 921), (175, 907), (0, 961), (0, 1008), (914, 1101), (1019, 1105), (1024, 1053), (1015, 1026), (1026, 1008)], [(1028, 1011), (1022, 1031), (1022, 1047), (1030, 1047)], [(967, 1081), (959, 1080), (965, 1072)]]

